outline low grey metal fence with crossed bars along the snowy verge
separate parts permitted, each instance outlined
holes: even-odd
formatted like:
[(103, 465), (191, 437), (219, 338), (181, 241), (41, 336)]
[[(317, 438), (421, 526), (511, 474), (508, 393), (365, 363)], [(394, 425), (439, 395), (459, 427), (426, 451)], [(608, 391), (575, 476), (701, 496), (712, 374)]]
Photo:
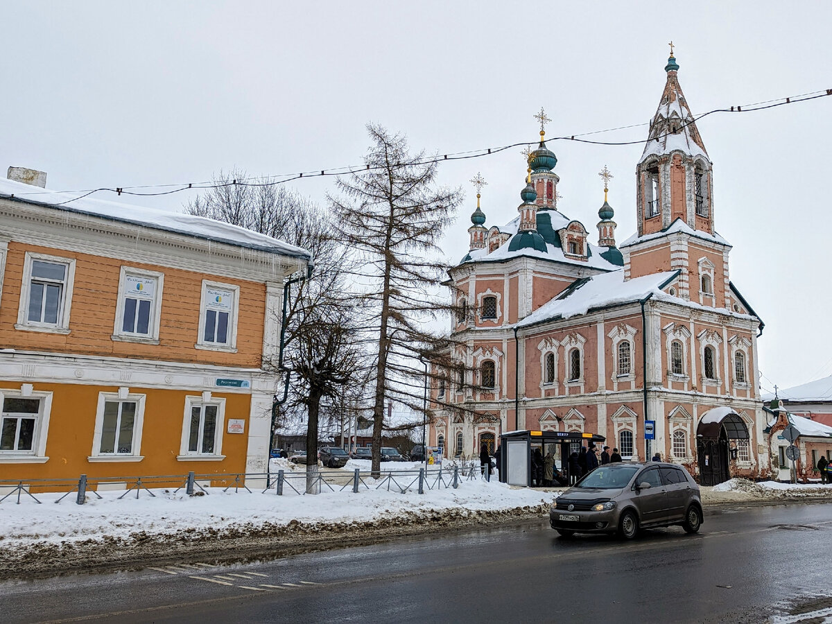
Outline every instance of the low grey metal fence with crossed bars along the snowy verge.
[[(428, 490), (442, 488), (458, 488), (462, 483), (482, 478), (490, 481), (488, 471), (482, 471), (478, 462), (454, 463), (448, 468), (441, 464), (437, 468), (411, 468), (394, 470), (392, 468), (379, 471), (377, 477), (371, 471), (362, 472), (355, 468), (347, 470), (319, 470), (308, 480), (305, 471), (278, 470), (276, 473), (210, 473), (210, 474), (157, 474), (141, 477), (88, 477), (82, 474), (77, 479), (43, 478), (43, 479), (0, 479), (0, 491), (5, 494), (0, 503), (5, 501), (20, 504), (21, 499), (31, 498), (36, 503), (42, 503), (52, 495), (58, 495), (53, 503), (72, 500), (70, 494), (75, 494), (75, 502), (82, 505), (87, 502), (87, 496), (92, 494), (103, 498), (99, 489), (110, 489), (108, 486), (118, 484), (124, 486), (124, 492), (118, 500), (128, 494), (135, 498), (142, 495), (145, 498), (156, 498), (154, 489), (175, 488), (174, 493), (182, 489), (190, 496), (210, 495), (212, 491), (220, 490), (235, 493), (272, 493), (277, 496), (303, 496), (306, 493), (324, 492), (352, 492), (362, 490), (386, 488), (387, 491), (400, 493), (425, 493)], [(255, 486), (258, 483), (258, 486)], [(265, 484), (265, 488), (262, 486)], [(249, 487), (251, 486), (251, 487)], [(252, 489), (254, 488), (254, 489)]]

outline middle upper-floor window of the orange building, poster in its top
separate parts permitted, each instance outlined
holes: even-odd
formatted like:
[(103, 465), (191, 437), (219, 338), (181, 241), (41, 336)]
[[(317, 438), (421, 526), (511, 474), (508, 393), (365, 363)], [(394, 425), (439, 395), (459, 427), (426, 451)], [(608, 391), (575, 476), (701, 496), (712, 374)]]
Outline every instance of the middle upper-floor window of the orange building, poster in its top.
[(164, 275), (121, 267), (113, 337), (158, 341)]

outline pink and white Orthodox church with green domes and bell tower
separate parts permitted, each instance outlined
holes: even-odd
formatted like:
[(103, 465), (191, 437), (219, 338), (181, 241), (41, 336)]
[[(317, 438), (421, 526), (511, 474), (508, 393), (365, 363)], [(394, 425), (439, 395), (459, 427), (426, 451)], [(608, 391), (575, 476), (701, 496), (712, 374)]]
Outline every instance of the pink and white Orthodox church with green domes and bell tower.
[(513, 430), (579, 431), (625, 461), (661, 453), (705, 484), (770, 473), (763, 323), (730, 281), (711, 158), (678, 70), (671, 54), (636, 164), (636, 234), (617, 242), (606, 167), (597, 244), (558, 210), (543, 111), (518, 216), (487, 226), (478, 192), (468, 254), (446, 282), (458, 366), (433, 371), (430, 443), (446, 457)]

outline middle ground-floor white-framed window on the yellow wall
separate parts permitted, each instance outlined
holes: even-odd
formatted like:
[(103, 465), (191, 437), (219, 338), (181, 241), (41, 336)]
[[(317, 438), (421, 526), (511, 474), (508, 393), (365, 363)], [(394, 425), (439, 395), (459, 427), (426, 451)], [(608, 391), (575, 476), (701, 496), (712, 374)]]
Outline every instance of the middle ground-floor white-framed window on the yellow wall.
[(141, 459), (145, 395), (99, 393), (90, 461)]

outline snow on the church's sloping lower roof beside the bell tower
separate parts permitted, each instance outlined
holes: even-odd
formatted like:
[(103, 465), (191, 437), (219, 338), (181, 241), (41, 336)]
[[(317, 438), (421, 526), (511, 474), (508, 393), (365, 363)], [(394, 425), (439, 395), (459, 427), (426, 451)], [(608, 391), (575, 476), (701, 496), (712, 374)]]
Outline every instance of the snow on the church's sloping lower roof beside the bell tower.
[[(522, 319), (518, 327), (527, 327), (551, 319), (568, 319), (572, 316), (587, 314), (589, 310), (640, 301), (648, 295), (665, 295), (661, 289), (675, 280), (678, 275), (678, 270), (667, 271), (625, 281), (624, 271), (619, 269), (583, 278), (577, 280), (561, 295), (547, 301)], [(670, 300), (682, 301), (670, 295), (666, 297)]]

